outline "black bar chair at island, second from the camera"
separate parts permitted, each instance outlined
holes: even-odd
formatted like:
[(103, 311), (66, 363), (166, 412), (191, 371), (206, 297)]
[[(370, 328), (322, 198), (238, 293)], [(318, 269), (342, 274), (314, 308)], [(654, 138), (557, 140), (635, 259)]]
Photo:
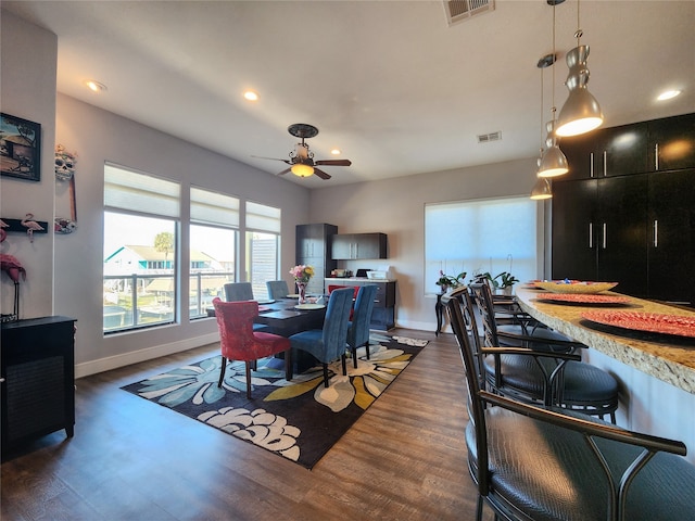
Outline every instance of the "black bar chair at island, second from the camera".
[[(485, 284), (471, 284), (483, 326), (485, 347), (515, 347), (485, 356), (481, 363), (492, 390), (532, 404), (557, 405), (616, 422), (618, 382), (608, 372), (564, 355), (586, 348), (572, 341), (497, 331), (490, 292)], [(468, 301), (467, 298), (468, 297)], [(470, 295), (464, 295), (472, 309)], [(472, 313), (472, 312), (471, 312)], [(501, 339), (513, 339), (518, 345), (503, 345)], [(478, 338), (476, 340), (479, 341)], [(528, 356), (528, 355), (532, 356)]]

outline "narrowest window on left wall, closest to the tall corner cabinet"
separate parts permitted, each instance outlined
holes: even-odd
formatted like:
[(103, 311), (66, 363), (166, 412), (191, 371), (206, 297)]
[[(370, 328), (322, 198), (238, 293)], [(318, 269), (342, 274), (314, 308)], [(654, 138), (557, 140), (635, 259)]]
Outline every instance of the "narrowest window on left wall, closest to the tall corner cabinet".
[[(266, 281), (278, 279), (280, 208), (247, 202), (247, 271), (253, 296), (267, 298)], [(289, 268), (288, 268), (289, 269)]]

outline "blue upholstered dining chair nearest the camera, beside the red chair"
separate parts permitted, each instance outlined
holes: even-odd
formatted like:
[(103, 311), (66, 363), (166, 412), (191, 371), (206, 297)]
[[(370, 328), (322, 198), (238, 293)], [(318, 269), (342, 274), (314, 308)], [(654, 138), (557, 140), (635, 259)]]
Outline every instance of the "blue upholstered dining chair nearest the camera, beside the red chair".
[(324, 366), (324, 385), (328, 387), (328, 364), (341, 359), (343, 376), (348, 374), (345, 350), (348, 347), (348, 323), (352, 309), (352, 288), (336, 290), (328, 298), (323, 329), (302, 331), (290, 336), (292, 350), (313, 355)]

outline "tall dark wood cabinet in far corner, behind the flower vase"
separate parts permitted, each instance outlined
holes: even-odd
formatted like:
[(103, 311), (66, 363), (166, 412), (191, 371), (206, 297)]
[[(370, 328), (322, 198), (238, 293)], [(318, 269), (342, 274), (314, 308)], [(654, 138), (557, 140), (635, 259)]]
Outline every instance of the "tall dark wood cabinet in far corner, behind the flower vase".
[(326, 223), (298, 225), (295, 234), (295, 260), (314, 267), (315, 275), (309, 280), (307, 293), (323, 294), (324, 279), (338, 267), (331, 258), (331, 238), (338, 233), (338, 227)]

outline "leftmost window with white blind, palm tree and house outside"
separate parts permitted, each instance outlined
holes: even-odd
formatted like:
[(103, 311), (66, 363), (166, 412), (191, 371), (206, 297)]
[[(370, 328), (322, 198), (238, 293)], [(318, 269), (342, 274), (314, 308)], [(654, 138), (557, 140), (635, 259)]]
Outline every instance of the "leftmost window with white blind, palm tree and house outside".
[(103, 331), (176, 320), (180, 186), (104, 166)]

